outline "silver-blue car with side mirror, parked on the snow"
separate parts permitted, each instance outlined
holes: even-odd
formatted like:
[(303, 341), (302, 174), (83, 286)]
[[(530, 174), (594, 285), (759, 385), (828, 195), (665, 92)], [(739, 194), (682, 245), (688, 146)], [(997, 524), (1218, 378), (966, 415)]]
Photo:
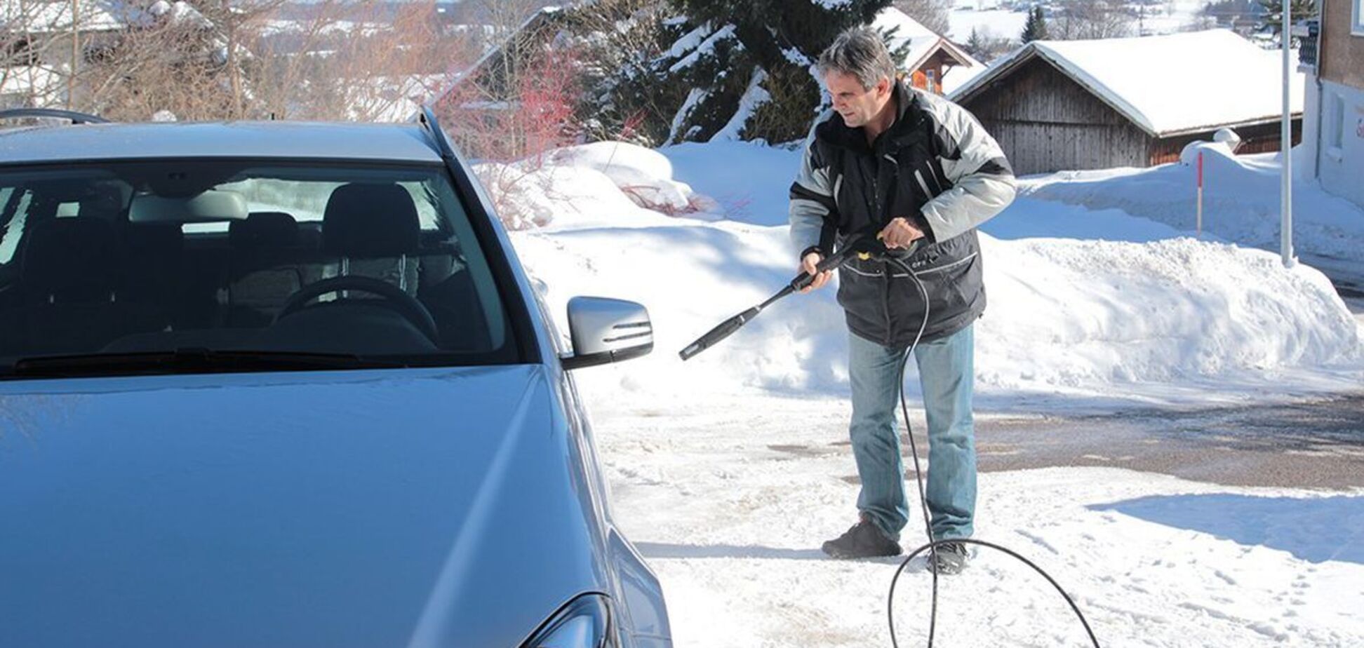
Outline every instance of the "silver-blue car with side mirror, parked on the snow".
[(670, 647), (567, 321), (430, 113), (0, 132), (0, 647)]

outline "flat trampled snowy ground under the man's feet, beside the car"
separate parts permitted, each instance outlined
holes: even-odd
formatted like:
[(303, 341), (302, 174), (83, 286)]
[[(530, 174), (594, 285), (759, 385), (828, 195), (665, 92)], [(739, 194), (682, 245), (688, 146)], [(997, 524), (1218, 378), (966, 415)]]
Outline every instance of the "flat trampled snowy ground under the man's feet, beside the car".
[[(663, 583), (679, 648), (891, 645), (898, 561), (818, 550), (855, 521), (846, 402), (588, 400), (615, 517)], [(1364, 645), (1364, 492), (1048, 468), (982, 475), (977, 520), (978, 539), (1050, 573), (1102, 645)], [(902, 543), (922, 537), (911, 521)], [(915, 561), (899, 645), (925, 645), (928, 595)], [(1046, 581), (992, 550), (943, 581), (938, 614), (936, 645), (1088, 645)]]

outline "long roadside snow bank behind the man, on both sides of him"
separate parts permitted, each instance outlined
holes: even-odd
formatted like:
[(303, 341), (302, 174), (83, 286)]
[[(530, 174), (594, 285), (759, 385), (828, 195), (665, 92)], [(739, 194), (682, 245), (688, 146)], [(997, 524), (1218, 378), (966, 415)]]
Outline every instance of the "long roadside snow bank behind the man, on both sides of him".
[[(666, 224), (516, 240), (561, 326), (574, 295), (651, 310), (655, 353), (582, 372), (585, 381), (660, 396), (847, 389), (847, 332), (832, 289), (788, 297), (722, 345), (685, 364), (677, 357), (795, 274), (782, 228)], [(1330, 282), (1305, 266), (1285, 270), (1270, 252), (1192, 239), (982, 244), (990, 306), (977, 330), (977, 382), (986, 393), (1274, 382), (1282, 370), (1360, 360), (1357, 325)]]

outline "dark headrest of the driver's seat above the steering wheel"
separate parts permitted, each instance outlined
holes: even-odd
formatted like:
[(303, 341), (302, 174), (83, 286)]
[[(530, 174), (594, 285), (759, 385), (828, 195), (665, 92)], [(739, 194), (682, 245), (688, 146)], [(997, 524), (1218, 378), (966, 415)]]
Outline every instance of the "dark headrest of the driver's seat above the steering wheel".
[(337, 256), (416, 254), (420, 235), (412, 194), (391, 183), (342, 184), (322, 216), (322, 250)]

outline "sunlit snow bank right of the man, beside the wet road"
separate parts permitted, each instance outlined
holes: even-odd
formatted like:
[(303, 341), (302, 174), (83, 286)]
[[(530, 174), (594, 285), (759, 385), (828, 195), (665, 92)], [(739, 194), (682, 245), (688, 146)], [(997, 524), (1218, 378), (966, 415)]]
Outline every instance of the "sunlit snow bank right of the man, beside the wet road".
[(1330, 281), (1270, 252), (1023, 239), (986, 241), (985, 259), (977, 364), (992, 387), (1270, 378), (1364, 359)]

